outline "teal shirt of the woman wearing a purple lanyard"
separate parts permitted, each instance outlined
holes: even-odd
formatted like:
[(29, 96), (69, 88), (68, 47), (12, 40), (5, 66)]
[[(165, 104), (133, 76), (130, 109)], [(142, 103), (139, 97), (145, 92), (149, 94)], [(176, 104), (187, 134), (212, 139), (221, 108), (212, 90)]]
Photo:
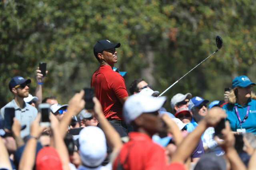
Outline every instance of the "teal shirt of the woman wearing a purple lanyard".
[(248, 118), (242, 123), (242, 128), (246, 129), (246, 133), (251, 132), (256, 134), (256, 100), (251, 98), (248, 99), (246, 105), (240, 106), (238, 103), (236, 104), (225, 104), (222, 108), (226, 110), (227, 120), (230, 122), (230, 127), (232, 131), (236, 131), (236, 129), (240, 129), (240, 122), (236, 115), (235, 107), (238, 109), (238, 113), (240, 115), (241, 121), (244, 120), (246, 115), (247, 107), (250, 106), (250, 110), (248, 113)]

